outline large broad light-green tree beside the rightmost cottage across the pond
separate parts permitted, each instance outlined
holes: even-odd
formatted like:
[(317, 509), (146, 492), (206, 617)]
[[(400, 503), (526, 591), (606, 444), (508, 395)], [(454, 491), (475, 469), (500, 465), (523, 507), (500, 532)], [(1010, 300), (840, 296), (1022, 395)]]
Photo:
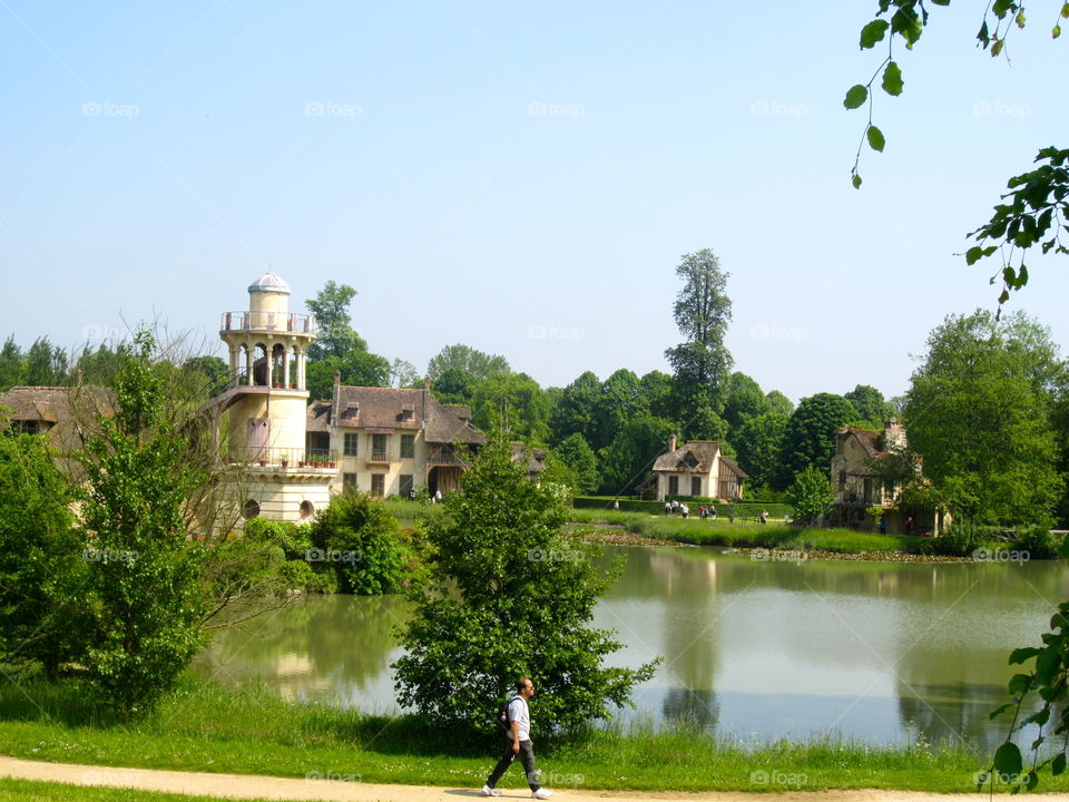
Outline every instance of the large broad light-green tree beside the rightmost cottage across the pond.
[(947, 317), (928, 349), (905, 405), (924, 476), (973, 522), (1049, 522), (1063, 490), (1051, 415), (1069, 385), (1049, 331), (977, 311)]

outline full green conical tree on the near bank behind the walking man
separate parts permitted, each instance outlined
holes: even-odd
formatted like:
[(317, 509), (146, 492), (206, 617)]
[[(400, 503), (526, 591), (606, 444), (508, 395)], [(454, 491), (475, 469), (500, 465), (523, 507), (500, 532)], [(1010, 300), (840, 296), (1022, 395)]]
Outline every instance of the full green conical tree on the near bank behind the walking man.
[(620, 644), (588, 626), (619, 566), (604, 575), (592, 561), (599, 549), (563, 534), (562, 495), (529, 481), (500, 432), (462, 485), (431, 524), (434, 581), (410, 596), (412, 617), (399, 633), (399, 703), (442, 724), (481, 727), (526, 675), (541, 691), (543, 726), (608, 718), (655, 667), (606, 667)]

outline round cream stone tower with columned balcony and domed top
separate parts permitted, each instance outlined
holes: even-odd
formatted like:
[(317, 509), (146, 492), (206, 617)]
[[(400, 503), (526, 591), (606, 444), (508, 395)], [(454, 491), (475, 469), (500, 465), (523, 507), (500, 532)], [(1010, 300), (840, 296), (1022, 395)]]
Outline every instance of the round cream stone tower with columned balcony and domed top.
[(300, 520), (330, 500), (334, 459), (306, 451), (306, 366), (315, 333), (315, 317), (291, 313), (290, 286), (269, 272), (249, 285), (247, 310), (223, 313), (231, 381), (216, 402), (228, 412), (228, 461), (244, 467), (246, 518)]

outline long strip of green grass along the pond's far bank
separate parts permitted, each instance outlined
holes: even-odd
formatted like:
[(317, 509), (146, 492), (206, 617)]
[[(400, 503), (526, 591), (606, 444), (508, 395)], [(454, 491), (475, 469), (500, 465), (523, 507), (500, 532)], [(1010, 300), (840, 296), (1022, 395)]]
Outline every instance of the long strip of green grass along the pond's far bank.
[(853, 529), (815, 529), (783, 521), (753, 524), (725, 519), (702, 520), (674, 516), (650, 516), (618, 510), (571, 510), (577, 524), (609, 524), (644, 537), (702, 546), (810, 549), (860, 554), (862, 551), (905, 551), (924, 538), (875, 535)]

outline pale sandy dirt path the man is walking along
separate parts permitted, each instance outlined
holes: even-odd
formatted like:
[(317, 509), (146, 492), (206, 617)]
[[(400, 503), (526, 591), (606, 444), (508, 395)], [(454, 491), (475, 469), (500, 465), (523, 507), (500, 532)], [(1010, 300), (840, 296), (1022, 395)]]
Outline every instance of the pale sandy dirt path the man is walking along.
[[(228, 799), (326, 800), (331, 802), (459, 802), (479, 799), (470, 788), (429, 788), (425, 785), (372, 785), (353, 776), (294, 780), (246, 774), (158, 771), (154, 769), (111, 769), (108, 766), (42, 763), (0, 756), (0, 776), (23, 780), (50, 780), (73, 785), (112, 785), (141, 791), (202, 794)], [(502, 800), (530, 799), (527, 791), (506, 790)], [(823, 791), (785, 792), (763, 796), (745, 792), (660, 793), (640, 791), (558, 791), (555, 800), (689, 800), (690, 802), (981, 802), (987, 794), (932, 794), (912, 791)], [(1028, 799), (1061, 800), (1067, 794), (1028, 794)]]

